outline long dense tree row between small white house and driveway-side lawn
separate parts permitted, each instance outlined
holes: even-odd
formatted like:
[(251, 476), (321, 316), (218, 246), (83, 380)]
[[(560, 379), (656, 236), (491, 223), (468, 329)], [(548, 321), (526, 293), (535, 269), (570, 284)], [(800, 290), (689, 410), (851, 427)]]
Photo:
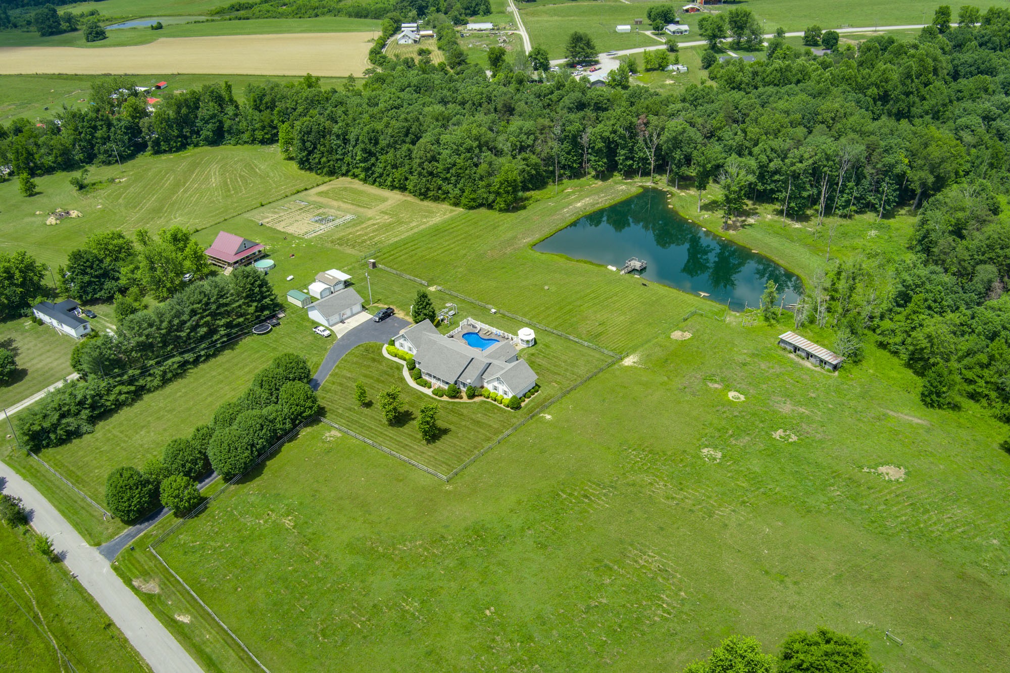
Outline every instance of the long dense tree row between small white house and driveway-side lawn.
[(71, 365), (81, 378), (19, 414), (18, 438), (37, 451), (91, 432), (102, 414), (157, 390), (280, 308), (266, 277), (250, 267), (192, 283), (125, 316), (115, 336), (92, 332), (78, 344)]

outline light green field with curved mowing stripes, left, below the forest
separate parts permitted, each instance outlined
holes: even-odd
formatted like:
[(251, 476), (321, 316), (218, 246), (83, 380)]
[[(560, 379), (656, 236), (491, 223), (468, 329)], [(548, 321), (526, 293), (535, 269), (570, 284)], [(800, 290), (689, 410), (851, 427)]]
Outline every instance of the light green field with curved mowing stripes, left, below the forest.
[[(140, 157), (121, 169), (96, 167), (91, 180), (122, 182), (84, 196), (70, 185), (73, 175), (35, 178), (39, 193), (31, 198), (18, 193), (16, 181), (0, 183), (5, 222), (0, 250), (27, 250), (55, 269), (96, 231), (119, 229), (131, 234), (144, 227), (156, 232), (173, 224), (202, 229), (321, 182), (319, 176), (282, 160), (276, 147), (202, 148)], [(45, 213), (58, 207), (80, 210), (84, 217), (46, 226)]]

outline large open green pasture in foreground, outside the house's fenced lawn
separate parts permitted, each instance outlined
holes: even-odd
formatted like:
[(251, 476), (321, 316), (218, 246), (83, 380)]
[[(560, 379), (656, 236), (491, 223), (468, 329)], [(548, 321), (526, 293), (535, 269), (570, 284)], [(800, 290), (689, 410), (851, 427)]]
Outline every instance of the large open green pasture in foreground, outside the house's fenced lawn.
[(820, 624), (888, 671), (1002, 670), (1005, 428), (873, 347), (835, 376), (785, 324), (682, 326), (448, 484), (306, 428), (158, 552), (272, 670), (680, 670)]

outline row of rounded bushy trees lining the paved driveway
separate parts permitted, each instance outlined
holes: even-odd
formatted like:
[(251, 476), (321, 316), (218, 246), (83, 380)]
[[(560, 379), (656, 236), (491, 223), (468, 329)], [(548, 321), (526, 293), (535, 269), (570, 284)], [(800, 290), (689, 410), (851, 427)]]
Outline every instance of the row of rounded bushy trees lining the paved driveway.
[(198, 425), (188, 439), (166, 445), (140, 470), (120, 467), (109, 473), (105, 501), (125, 522), (135, 521), (160, 501), (178, 514), (200, 502), (196, 480), (208, 466), (224, 479), (248, 470), (278, 439), (319, 410), (309, 387), (308, 364), (286, 353), (257, 374), (241, 397), (224, 402), (209, 424)]

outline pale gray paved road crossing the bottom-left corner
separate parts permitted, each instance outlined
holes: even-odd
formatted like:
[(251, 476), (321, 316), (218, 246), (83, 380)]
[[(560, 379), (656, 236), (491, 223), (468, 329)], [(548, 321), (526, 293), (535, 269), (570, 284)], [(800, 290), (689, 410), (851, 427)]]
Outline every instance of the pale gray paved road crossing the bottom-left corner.
[(4, 491), (20, 497), (25, 508), (32, 511), (31, 525), (53, 539), (58, 553), (66, 553), (64, 563), (156, 673), (200, 673), (189, 653), (123, 584), (109, 562), (96, 549), (88, 547), (84, 538), (34, 486), (3, 462), (0, 462), (0, 477), (5, 480)]

